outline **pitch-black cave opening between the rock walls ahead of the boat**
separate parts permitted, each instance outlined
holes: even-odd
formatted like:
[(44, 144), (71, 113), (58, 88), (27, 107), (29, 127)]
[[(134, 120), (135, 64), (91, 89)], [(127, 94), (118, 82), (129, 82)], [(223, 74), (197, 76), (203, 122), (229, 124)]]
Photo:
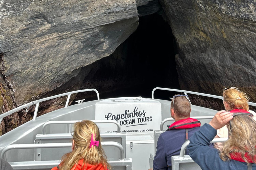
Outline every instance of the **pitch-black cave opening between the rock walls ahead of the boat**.
[[(100, 98), (147, 97), (155, 87), (179, 89), (175, 55), (178, 53), (171, 27), (155, 13), (139, 17), (139, 26), (116, 50), (89, 67), (81, 89), (95, 88)], [(88, 71), (88, 66), (83, 68)], [(76, 100), (84, 99), (78, 94)], [(87, 95), (88, 96), (88, 95)], [(95, 100), (91, 93), (88, 100)], [(166, 91), (155, 96), (169, 99)], [(74, 102), (73, 102), (74, 103)], [(74, 103), (75, 104), (75, 103)]]

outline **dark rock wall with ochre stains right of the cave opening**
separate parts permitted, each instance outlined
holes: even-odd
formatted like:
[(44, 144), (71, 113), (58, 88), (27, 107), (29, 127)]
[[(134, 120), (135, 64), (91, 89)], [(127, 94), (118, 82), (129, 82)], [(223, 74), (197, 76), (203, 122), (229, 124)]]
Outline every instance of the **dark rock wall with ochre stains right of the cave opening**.
[(235, 86), (256, 102), (255, 1), (159, 1), (179, 48), (181, 89), (221, 95)]

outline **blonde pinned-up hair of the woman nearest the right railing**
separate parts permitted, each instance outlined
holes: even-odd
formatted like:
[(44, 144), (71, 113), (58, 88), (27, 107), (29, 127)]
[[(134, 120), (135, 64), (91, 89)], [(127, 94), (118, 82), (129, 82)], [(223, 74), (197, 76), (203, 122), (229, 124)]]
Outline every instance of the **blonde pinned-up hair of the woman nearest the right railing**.
[(230, 109), (249, 110), (249, 98), (245, 93), (240, 92), (237, 89), (227, 89), (223, 91), (223, 99), (227, 102)]

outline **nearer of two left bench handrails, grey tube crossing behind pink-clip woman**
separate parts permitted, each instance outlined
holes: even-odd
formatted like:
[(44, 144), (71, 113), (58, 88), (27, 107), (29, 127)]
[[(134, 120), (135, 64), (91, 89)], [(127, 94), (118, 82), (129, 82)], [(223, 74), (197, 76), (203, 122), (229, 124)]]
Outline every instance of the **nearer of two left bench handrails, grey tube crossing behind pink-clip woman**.
[[(72, 143), (40, 143), (40, 144), (13, 144), (6, 146), (2, 153), (1, 158), (6, 159), (6, 152), (12, 149), (37, 149), (37, 148), (62, 148), (71, 147)], [(124, 159), (124, 148), (117, 142), (101, 142), (101, 146), (114, 146), (120, 150), (120, 160)]]

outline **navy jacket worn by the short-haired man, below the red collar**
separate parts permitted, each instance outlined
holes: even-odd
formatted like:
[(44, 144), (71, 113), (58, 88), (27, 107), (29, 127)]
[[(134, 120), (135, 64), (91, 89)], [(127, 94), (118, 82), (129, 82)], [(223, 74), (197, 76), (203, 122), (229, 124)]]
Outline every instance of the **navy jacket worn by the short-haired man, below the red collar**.
[[(188, 138), (200, 127), (189, 128)], [(180, 148), (186, 141), (186, 129), (172, 129), (161, 133), (157, 141), (156, 156), (153, 161), (154, 170), (167, 170), (172, 166), (172, 156), (180, 154)], [(188, 150), (186, 154), (188, 154)]]

